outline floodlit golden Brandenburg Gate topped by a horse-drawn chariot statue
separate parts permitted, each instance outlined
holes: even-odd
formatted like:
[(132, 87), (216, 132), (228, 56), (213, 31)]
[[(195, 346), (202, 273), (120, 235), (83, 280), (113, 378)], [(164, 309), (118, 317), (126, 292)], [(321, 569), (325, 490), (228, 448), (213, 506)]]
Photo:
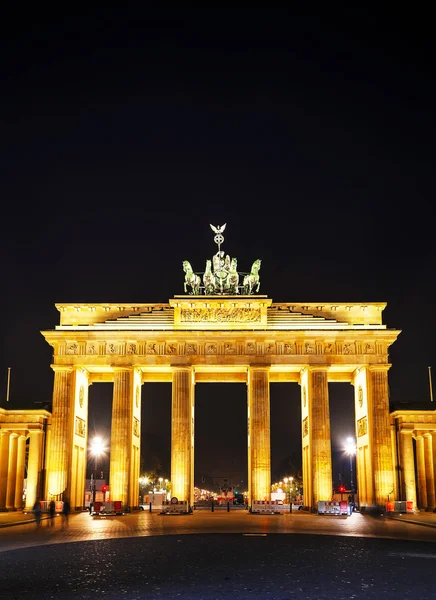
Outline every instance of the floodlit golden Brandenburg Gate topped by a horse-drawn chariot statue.
[[(270, 383), (299, 384), (304, 505), (316, 508), (319, 500), (332, 497), (328, 384), (349, 382), (354, 386), (361, 509), (384, 508), (397, 498), (416, 506), (412, 438), (418, 500), (434, 507), (436, 418), (389, 413), (388, 353), (400, 331), (383, 324), (386, 304), (273, 302), (259, 294), (261, 261), (256, 260), (250, 272), (238, 273), (237, 260), (221, 250), (225, 225), (211, 228), (218, 252), (206, 260), (202, 274), (183, 261), (185, 294), (168, 303), (56, 305), (59, 325), (41, 332), (53, 348), (51, 415), (0, 411), (0, 510), (11, 509), (19, 497), (16, 482), (22, 483), (23, 475), (12, 464), (11, 452), (19, 456), (22, 471), (23, 440), (29, 432), (34, 441), (31, 437), (33, 475), (28, 479), (27, 507), (35, 499), (43, 464), (41, 496), (67, 496), (72, 507), (83, 506), (88, 388), (100, 382), (113, 383), (110, 495), (125, 507), (138, 505), (141, 386), (148, 382), (172, 383), (172, 496), (191, 506), (197, 383), (247, 386), (250, 506), (270, 499), (271, 493)], [(23, 422), (26, 418), (30, 424)], [(396, 476), (400, 464), (401, 482)]]

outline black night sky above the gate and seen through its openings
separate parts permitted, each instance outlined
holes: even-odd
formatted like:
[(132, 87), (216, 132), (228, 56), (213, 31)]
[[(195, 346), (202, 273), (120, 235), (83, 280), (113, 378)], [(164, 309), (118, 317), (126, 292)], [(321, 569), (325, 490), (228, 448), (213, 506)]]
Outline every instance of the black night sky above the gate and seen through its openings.
[[(209, 223), (227, 223), (241, 270), (262, 259), (273, 301), (386, 301), (385, 323), (402, 330), (391, 401), (428, 401), (430, 15), (126, 6), (3, 13), (1, 405), (8, 367), (9, 408), (50, 401), (40, 331), (58, 323), (56, 302), (168, 301), (183, 293), (182, 260), (201, 270), (214, 253)], [(97, 430), (110, 411), (103, 387), (91, 388)], [(298, 386), (272, 387), (279, 477), (300, 451), (300, 409)], [(340, 446), (352, 388), (334, 387)], [(169, 394), (153, 388), (143, 436), (161, 455)], [(198, 390), (197, 475), (246, 471), (244, 403), (239, 386)]]

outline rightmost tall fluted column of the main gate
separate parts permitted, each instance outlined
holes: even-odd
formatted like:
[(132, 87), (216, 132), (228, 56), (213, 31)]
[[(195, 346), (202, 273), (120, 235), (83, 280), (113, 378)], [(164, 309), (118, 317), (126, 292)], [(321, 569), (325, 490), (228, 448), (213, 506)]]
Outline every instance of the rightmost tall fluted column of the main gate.
[(394, 498), (394, 465), (389, 423), (388, 366), (370, 367), (372, 404), (372, 468), (375, 502), (384, 507)]

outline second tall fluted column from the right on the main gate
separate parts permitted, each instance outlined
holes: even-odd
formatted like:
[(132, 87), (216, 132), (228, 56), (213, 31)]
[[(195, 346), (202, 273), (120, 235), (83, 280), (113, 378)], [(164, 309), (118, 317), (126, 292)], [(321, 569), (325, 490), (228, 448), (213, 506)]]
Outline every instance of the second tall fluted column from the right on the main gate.
[(309, 370), (309, 410), (312, 446), (312, 505), (332, 497), (332, 454), (327, 371)]

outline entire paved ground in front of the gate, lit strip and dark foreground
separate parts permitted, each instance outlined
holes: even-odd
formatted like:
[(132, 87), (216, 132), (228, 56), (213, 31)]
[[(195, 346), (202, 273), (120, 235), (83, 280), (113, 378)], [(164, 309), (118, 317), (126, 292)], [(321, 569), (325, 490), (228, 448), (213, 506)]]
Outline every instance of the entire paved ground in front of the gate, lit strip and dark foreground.
[(40, 527), (1, 513), (0, 525), (1, 600), (436, 600), (434, 513), (84, 512)]

